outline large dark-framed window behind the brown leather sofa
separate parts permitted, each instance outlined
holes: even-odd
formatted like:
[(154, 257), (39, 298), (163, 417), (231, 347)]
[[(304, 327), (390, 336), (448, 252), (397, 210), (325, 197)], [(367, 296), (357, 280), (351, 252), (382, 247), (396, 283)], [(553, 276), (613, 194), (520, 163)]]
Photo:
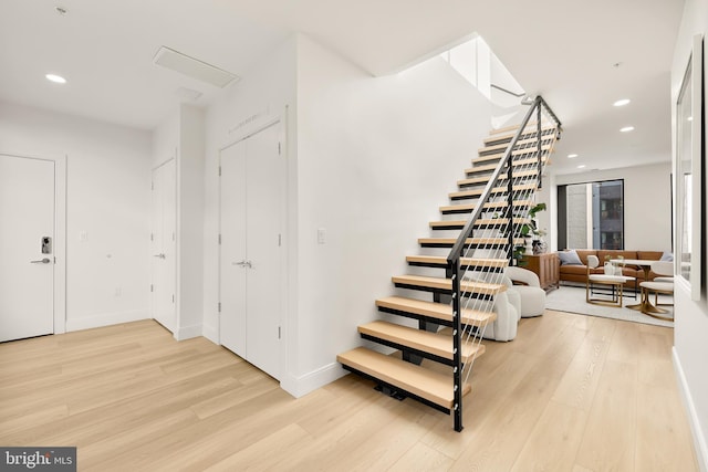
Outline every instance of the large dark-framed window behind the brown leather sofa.
[(624, 249), (624, 180), (558, 188), (559, 249)]

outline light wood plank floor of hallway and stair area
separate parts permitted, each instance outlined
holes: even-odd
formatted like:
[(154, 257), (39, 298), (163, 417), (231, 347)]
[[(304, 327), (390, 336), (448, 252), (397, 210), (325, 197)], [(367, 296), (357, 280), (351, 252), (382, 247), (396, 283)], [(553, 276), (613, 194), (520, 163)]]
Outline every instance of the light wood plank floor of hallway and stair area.
[(138, 322), (0, 345), (0, 444), (80, 471), (697, 471), (670, 328), (546, 312), (487, 342), (465, 430), (346, 376), (298, 400)]

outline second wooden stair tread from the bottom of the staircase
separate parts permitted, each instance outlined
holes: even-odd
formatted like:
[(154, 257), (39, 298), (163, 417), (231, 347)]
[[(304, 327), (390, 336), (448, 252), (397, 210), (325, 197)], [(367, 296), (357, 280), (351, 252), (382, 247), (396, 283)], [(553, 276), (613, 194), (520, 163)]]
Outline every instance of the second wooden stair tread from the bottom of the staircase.
[[(452, 337), (450, 335), (431, 333), (384, 321), (360, 325), (358, 332), (377, 339), (452, 360)], [(461, 353), (462, 363), (467, 364), (485, 354), (485, 346), (478, 343), (465, 343)]]

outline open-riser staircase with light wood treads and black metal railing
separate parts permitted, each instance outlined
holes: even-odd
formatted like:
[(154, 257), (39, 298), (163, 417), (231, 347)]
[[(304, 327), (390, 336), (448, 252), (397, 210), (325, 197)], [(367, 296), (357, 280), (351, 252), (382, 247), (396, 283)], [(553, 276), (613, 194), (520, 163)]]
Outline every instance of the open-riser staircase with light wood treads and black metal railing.
[(421, 253), (406, 258), (412, 273), (392, 277), (406, 296), (376, 301), (387, 319), (412, 318), (418, 327), (383, 319), (358, 326), (363, 339), (396, 352), (362, 346), (342, 353), (337, 361), (346, 370), (395, 398), (452, 415), (455, 430), (462, 430), (471, 368), (485, 353), (481, 339), (497, 318), (494, 300), (507, 290), (503, 270), (514, 247), (523, 245), (521, 225), (560, 130), (553, 112), (537, 97), (519, 126), (485, 139), (458, 191), (449, 193), (450, 204), (440, 208), (440, 221), (430, 222), (434, 237), (418, 239)]

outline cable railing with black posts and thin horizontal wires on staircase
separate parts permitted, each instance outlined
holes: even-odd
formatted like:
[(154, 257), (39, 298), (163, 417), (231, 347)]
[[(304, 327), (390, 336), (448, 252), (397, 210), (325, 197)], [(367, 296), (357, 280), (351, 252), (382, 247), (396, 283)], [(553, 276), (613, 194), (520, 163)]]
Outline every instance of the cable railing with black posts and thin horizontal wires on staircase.
[[(535, 123), (531, 123), (532, 118)], [(462, 364), (464, 350), (478, 353), (488, 323), (476, 326), (462, 322), (475, 313), (497, 312), (496, 304), (508, 303), (504, 265), (461, 264), (461, 260), (513, 261), (514, 248), (523, 244), (521, 228), (528, 223), (528, 211), (542, 183), (542, 169), (560, 137), (561, 123), (538, 96), (523, 117), (503, 157), (491, 171), (475, 209), (447, 256), (447, 276), (452, 282), (452, 415), (455, 430), (462, 430), (462, 395), (476, 356)], [(458, 192), (465, 197), (464, 192)], [(506, 202), (500, 214), (494, 209)], [(465, 270), (462, 270), (462, 266)], [(497, 306), (498, 308), (499, 306)]]

